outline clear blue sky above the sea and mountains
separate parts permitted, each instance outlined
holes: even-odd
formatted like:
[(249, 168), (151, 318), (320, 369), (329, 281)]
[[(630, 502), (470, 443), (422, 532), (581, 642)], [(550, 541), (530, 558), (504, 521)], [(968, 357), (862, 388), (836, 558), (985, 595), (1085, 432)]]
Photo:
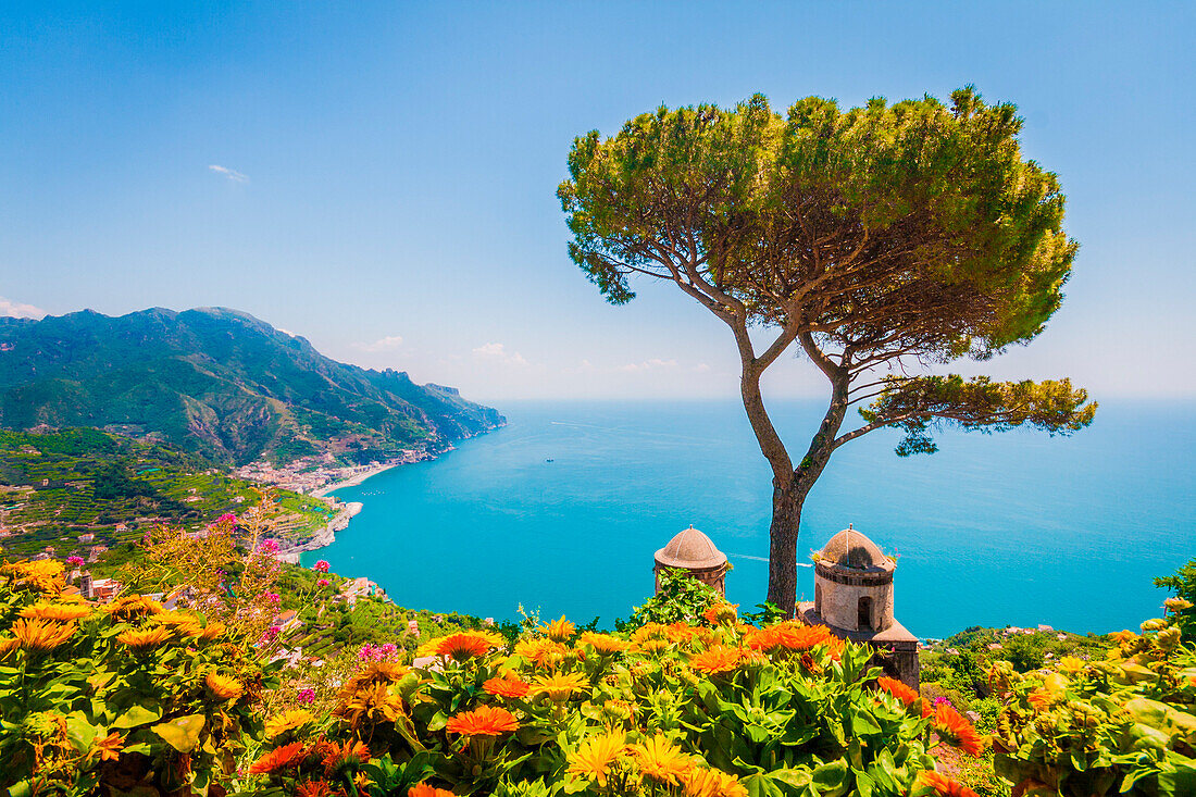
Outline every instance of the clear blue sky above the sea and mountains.
[[(7, 4), (0, 311), (225, 305), (501, 401), (731, 396), (728, 334), (606, 305), (554, 195), (574, 135), (670, 105), (1015, 102), (1081, 253), (989, 363), (1196, 395), (1188, 4)], [(219, 166), (220, 169), (214, 169)], [(773, 395), (822, 395), (779, 364)]]

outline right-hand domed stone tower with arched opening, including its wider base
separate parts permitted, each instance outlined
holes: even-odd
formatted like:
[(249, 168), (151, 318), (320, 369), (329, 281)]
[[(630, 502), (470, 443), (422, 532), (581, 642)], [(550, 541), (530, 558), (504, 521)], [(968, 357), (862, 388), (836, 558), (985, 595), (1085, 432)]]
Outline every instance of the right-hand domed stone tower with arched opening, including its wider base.
[(798, 616), (872, 645), (874, 663), (916, 689), (917, 638), (893, 616), (896, 568), (877, 543), (848, 527), (814, 556), (814, 601), (798, 604)]

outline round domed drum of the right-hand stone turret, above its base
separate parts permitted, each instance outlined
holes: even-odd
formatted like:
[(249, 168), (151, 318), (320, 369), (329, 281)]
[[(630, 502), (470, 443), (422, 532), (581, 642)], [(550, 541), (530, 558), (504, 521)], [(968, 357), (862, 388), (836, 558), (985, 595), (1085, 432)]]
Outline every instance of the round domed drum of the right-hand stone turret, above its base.
[(877, 543), (843, 529), (814, 559), (814, 612), (847, 631), (885, 631), (893, 625), (896, 568)]

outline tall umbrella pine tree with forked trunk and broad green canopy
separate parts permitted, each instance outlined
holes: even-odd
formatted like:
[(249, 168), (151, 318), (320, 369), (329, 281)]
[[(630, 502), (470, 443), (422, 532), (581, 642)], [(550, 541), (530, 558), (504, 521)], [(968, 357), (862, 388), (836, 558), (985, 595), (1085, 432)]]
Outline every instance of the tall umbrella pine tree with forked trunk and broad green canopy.
[[(969, 87), (950, 107), (877, 98), (842, 111), (808, 97), (782, 117), (757, 95), (733, 110), (660, 108), (574, 141), (557, 191), (573, 261), (614, 304), (634, 298), (633, 276), (669, 280), (734, 336), (774, 473), (769, 600), (782, 608), (801, 504), (838, 445), (901, 426), (910, 454), (933, 451), (940, 424), (1068, 433), (1092, 420), (1067, 379), (911, 373), (1029, 342), (1062, 302), (1076, 244), (1058, 181), (1023, 158), (1020, 129), (1013, 105)], [(797, 466), (759, 391), (794, 345), (831, 393)], [(853, 404), (865, 422), (840, 434)]]

